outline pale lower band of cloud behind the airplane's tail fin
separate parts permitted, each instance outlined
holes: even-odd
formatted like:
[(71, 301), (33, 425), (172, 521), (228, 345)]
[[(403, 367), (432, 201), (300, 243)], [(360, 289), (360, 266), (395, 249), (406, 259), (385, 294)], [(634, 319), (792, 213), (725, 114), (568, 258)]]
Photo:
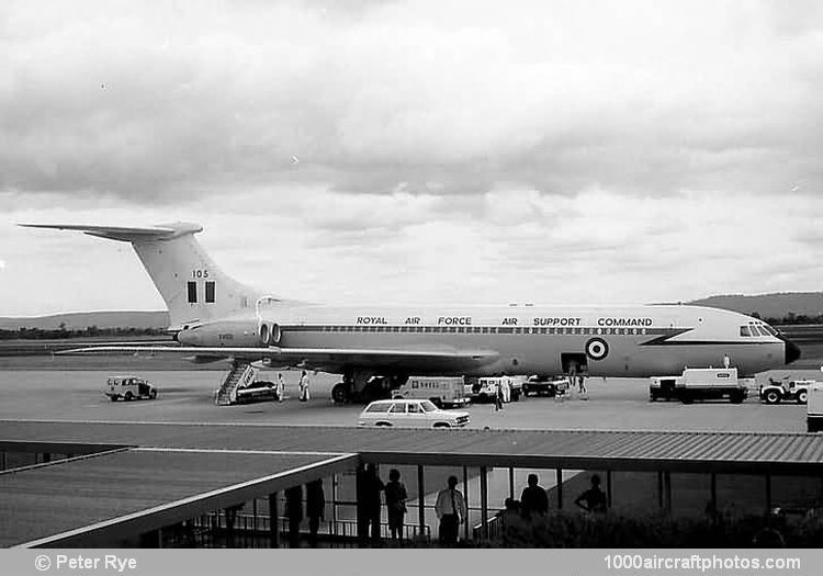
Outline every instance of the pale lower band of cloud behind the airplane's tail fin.
[[(306, 188), (294, 195), (238, 193), (228, 206), (217, 195), (173, 207), (113, 200), (18, 206), (0, 221), (9, 264), (0, 301), (8, 314), (162, 307), (127, 245), (15, 222), (201, 222), (200, 241), (227, 273), (320, 303), (677, 302), (823, 284), (819, 240), (801, 234), (814, 229), (811, 215), (823, 211), (815, 196), (781, 210), (767, 196), (701, 191), (641, 197), (522, 190), (471, 203), (388, 194), (338, 204), (329, 195)], [(391, 226), (369, 226), (370, 204), (376, 217), (393, 217)]]

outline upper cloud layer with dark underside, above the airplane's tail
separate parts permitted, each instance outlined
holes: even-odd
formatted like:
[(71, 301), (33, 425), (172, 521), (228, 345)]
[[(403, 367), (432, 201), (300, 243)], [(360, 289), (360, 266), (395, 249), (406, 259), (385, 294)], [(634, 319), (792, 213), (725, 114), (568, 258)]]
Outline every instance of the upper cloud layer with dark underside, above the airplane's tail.
[(0, 189), (815, 193), (803, 7), (12, 3)]

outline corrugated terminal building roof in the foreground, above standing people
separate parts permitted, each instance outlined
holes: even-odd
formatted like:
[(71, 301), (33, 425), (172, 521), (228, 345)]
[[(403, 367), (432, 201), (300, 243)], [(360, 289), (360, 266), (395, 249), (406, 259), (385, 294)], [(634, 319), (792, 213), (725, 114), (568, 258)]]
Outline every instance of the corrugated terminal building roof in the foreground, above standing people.
[(360, 462), (823, 474), (823, 436), (807, 433), (0, 421), (0, 451), (83, 454), (89, 444), (108, 451), (0, 473), (0, 546), (139, 533)]

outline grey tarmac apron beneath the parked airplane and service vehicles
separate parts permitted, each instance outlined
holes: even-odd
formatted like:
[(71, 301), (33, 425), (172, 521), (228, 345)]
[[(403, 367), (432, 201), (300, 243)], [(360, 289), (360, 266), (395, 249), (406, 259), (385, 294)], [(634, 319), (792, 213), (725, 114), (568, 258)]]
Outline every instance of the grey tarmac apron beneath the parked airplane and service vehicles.
[[(288, 426), (353, 427), (362, 409), (359, 405), (332, 405), (329, 393), (337, 381), (332, 375), (312, 379), (313, 397), (297, 402), (297, 374), (284, 372), (283, 403), (216, 406), (213, 392), (224, 373), (219, 371), (139, 371), (159, 388), (156, 400), (112, 403), (102, 394), (108, 375), (117, 370), (49, 370), (0, 372), (0, 419), (74, 420), (94, 422), (202, 422), (259, 423)], [(787, 372), (776, 375), (782, 377)], [(793, 373), (794, 376), (820, 372)], [(261, 372), (273, 380), (275, 372)], [(767, 375), (758, 376), (765, 379)], [(650, 403), (646, 380), (589, 379), (588, 400), (576, 394), (565, 402), (530, 397), (511, 403), (495, 413), (492, 405), (474, 405), (470, 428), (525, 430), (714, 430), (714, 431), (805, 431), (805, 406), (760, 404), (756, 391), (741, 405), (725, 402)]]

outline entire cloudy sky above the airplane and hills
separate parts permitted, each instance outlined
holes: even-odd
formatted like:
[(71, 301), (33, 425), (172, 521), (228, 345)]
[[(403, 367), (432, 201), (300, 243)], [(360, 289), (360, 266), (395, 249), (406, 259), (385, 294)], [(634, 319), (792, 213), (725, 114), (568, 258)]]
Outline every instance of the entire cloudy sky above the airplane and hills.
[(0, 316), (164, 308), (19, 223), (332, 304), (823, 290), (814, 0), (7, 1), (0, 53)]

